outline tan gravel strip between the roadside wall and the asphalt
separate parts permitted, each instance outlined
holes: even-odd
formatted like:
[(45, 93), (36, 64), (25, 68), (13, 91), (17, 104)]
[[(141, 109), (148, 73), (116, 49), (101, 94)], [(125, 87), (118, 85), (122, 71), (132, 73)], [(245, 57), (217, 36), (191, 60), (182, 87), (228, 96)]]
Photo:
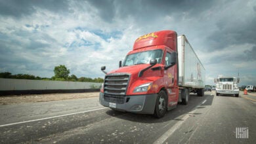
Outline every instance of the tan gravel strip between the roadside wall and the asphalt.
[(66, 93), (66, 94), (26, 94), (26, 95), (0, 96), (0, 105), (91, 98), (91, 97), (98, 97), (98, 96), (99, 96), (99, 92)]

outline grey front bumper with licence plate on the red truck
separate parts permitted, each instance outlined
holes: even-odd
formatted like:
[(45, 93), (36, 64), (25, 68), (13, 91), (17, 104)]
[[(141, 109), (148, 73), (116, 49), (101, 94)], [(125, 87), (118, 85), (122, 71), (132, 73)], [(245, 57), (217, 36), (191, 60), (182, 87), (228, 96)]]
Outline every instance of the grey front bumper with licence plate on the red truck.
[(100, 104), (104, 107), (110, 107), (119, 111), (128, 111), (132, 113), (154, 114), (156, 99), (158, 94), (146, 94), (126, 96), (129, 99), (125, 103), (111, 103), (104, 99), (104, 94), (100, 92)]

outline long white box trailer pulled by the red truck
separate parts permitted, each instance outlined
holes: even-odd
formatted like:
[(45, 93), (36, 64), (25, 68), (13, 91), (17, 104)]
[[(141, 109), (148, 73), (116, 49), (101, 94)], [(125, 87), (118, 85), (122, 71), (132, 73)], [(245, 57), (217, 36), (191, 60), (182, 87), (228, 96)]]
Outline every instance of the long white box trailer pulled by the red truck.
[(205, 68), (200, 62), (185, 35), (177, 38), (179, 57), (179, 86), (190, 89), (190, 92), (204, 95)]

